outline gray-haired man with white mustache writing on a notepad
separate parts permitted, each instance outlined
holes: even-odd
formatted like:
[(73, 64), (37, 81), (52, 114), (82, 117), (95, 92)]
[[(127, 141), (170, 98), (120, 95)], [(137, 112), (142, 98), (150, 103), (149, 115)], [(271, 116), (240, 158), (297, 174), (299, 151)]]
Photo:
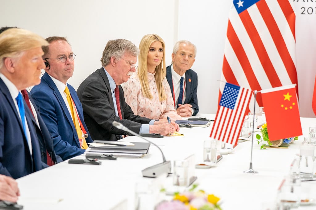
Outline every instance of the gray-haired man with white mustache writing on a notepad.
[(82, 103), (84, 118), (94, 140), (116, 141), (129, 135), (112, 126), (118, 121), (135, 133), (167, 135), (179, 125), (167, 120), (155, 121), (134, 115), (126, 104), (120, 84), (126, 82), (137, 69), (139, 49), (125, 39), (110, 40), (103, 51), (102, 67), (85, 79), (77, 94)]

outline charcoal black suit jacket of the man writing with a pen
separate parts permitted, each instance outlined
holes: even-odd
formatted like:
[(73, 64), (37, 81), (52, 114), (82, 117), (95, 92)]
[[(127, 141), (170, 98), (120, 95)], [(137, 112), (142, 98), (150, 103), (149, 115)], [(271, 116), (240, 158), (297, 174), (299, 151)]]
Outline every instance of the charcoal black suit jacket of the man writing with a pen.
[(135, 115), (125, 102), (121, 86), (119, 86), (119, 91), (122, 120), (115, 115), (114, 103), (116, 102), (113, 102), (110, 83), (103, 67), (94, 71), (77, 89), (82, 103), (84, 121), (92, 139), (116, 141), (120, 139), (120, 135), (130, 135), (113, 127), (113, 121), (122, 123), (135, 133), (139, 133), (142, 124), (148, 124), (151, 121), (149, 118)]

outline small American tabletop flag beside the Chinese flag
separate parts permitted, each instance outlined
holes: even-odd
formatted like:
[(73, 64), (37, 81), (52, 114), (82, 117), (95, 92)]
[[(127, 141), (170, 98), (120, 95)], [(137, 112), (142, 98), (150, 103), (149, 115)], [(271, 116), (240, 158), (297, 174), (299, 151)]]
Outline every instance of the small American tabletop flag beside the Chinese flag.
[(211, 138), (232, 145), (237, 144), (251, 96), (252, 90), (230, 83), (225, 84), (210, 134)]

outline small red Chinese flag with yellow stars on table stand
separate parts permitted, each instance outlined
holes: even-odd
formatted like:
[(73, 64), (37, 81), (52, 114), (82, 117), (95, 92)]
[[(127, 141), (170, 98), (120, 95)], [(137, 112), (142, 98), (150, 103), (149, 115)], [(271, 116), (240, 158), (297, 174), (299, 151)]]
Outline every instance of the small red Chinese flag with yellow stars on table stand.
[(261, 90), (270, 141), (302, 135), (295, 85)]

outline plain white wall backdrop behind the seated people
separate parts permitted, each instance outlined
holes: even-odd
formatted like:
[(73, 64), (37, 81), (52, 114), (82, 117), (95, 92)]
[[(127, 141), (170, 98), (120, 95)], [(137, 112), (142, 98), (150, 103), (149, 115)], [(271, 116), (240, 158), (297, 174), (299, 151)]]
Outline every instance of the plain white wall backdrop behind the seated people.
[[(297, 72), (301, 116), (314, 117), (311, 96), (315, 78), (316, 4), (294, 0), (296, 9)], [(137, 46), (143, 35), (156, 33), (166, 42), (166, 62), (173, 44), (187, 39), (197, 46), (192, 69), (198, 74), (201, 113), (216, 113), (228, 11), (232, 0), (0, 0), (0, 26), (17, 26), (43, 37), (64, 36), (77, 55), (69, 83), (100, 68), (106, 42), (125, 38)], [(301, 14), (305, 8), (305, 14)], [(311, 9), (308, 9), (308, 8)], [(311, 14), (309, 14), (311, 13)]]

